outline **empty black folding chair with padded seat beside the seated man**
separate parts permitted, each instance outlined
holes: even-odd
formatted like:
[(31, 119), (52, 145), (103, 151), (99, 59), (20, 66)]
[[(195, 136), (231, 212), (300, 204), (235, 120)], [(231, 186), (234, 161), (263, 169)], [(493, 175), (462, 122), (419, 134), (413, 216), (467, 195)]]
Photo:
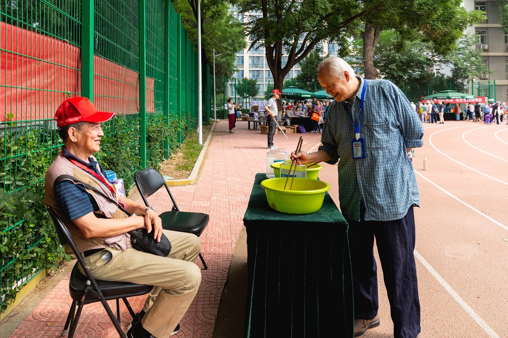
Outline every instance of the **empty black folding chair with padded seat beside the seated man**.
[[(161, 173), (157, 172), (155, 169), (146, 168), (145, 170), (135, 173), (134, 182), (136, 183), (136, 187), (141, 194), (141, 198), (143, 198), (147, 207), (150, 205), (148, 204), (146, 198), (161, 189), (163, 186), (166, 187), (169, 197), (173, 202), (173, 208), (171, 211), (166, 211), (159, 215), (162, 219), (162, 227), (164, 229), (194, 233), (199, 237), (208, 225), (208, 221), (210, 220), (210, 216), (208, 216), (208, 214), (185, 212), (178, 209), (176, 201), (166, 184), (166, 180)], [(208, 269), (208, 265), (206, 265), (201, 252), (199, 253), (199, 258), (201, 259), (205, 270)]]

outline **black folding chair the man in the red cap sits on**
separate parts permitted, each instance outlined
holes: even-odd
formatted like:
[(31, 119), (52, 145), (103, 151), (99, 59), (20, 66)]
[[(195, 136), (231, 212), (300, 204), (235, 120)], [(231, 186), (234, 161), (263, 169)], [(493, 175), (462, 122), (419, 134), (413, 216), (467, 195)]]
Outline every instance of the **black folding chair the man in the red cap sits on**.
[[(76, 245), (74, 244), (71, 234), (67, 227), (63, 224), (60, 217), (51, 209), (47, 208), (51, 218), (53, 219), (53, 223), (55, 224), (56, 233), (58, 234), (58, 239), (60, 240), (60, 244), (62, 246), (68, 245), (72, 248), (72, 251), (76, 255), (78, 259), (77, 263), (74, 265), (74, 268), (71, 272), (71, 278), (69, 280), (69, 293), (72, 298), (71, 309), (69, 310), (69, 315), (67, 316), (67, 321), (65, 326), (63, 327), (62, 336), (67, 335), (67, 331), (69, 329), (69, 325), (71, 326), (71, 331), (69, 332), (69, 337), (72, 338), (74, 332), (76, 331), (76, 327), (78, 326), (79, 317), (81, 316), (81, 311), (83, 310), (83, 306), (89, 303), (100, 301), (104, 306), (104, 309), (108, 313), (111, 322), (115, 326), (118, 334), (122, 338), (126, 338), (123, 333), (122, 328), (120, 327), (120, 301), (119, 299), (123, 299), (125, 306), (129, 310), (129, 313), (134, 318), (136, 314), (131, 308), (127, 297), (140, 296), (149, 293), (153, 286), (144, 285), (144, 284), (134, 284), (134, 283), (124, 283), (124, 282), (108, 282), (96, 280), (91, 275), (90, 271), (86, 267), (85, 261), (83, 257), (79, 253)], [(86, 276), (83, 276), (78, 269), (78, 265), (81, 265), (81, 268), (85, 272)], [(109, 307), (106, 300), (116, 300), (116, 318), (111, 308)], [(78, 307), (76, 311), (76, 306)]]

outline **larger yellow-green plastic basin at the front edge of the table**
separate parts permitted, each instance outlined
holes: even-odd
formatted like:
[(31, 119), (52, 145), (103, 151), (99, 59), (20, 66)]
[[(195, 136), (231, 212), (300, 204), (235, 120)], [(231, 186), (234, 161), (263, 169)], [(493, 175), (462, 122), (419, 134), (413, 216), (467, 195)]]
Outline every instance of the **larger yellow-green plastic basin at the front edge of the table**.
[(295, 177), (293, 187), (289, 190), (291, 187), (290, 177), (284, 190), (286, 179), (286, 177), (276, 177), (261, 182), (270, 208), (294, 215), (311, 214), (321, 209), (325, 192), (330, 189), (328, 183)]

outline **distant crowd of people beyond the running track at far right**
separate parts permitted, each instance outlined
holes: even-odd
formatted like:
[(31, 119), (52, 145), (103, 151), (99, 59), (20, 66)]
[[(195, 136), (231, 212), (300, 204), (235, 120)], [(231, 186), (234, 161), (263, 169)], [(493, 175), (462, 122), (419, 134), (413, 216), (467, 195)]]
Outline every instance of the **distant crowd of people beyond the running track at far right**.
[[(422, 123), (444, 124), (444, 113), (454, 113), (455, 120), (461, 119), (463, 113), (464, 121), (481, 122), (486, 124), (501, 124), (503, 120), (508, 121), (508, 102), (491, 102), (489, 104), (480, 104), (479, 102), (470, 102), (462, 111), (459, 104), (444, 103), (442, 100), (422, 101), (417, 105), (411, 102), (411, 107), (415, 109)], [(439, 120), (439, 122), (437, 122)], [(507, 123), (508, 124), (508, 123)]]

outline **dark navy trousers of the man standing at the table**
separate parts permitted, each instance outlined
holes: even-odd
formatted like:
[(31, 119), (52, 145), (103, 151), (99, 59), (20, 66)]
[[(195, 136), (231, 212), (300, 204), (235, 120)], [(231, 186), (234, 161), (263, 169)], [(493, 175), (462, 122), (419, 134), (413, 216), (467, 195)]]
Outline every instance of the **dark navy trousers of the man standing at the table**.
[(394, 221), (365, 221), (365, 206), (360, 204), (360, 222), (347, 220), (353, 269), (355, 319), (377, 315), (377, 265), (374, 238), (383, 268), (390, 301), (395, 338), (414, 338), (421, 331), (420, 299), (415, 264), (415, 216), (413, 207)]

